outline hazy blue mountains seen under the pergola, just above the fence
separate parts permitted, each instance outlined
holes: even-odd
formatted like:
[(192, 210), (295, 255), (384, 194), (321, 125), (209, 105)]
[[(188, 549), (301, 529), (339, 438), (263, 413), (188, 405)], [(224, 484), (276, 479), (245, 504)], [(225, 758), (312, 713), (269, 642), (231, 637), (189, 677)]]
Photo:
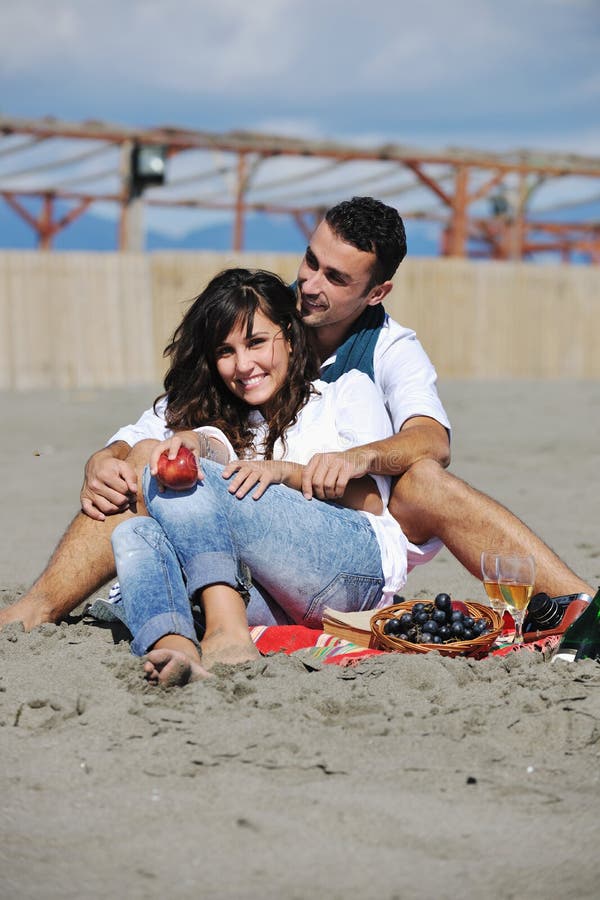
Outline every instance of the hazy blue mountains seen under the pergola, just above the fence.
[[(53, 246), (56, 250), (114, 251), (117, 248), (117, 222), (87, 213), (60, 231)], [(439, 240), (435, 226), (407, 222), (409, 254), (437, 256)], [(232, 226), (213, 225), (195, 229), (179, 238), (158, 231), (146, 233), (147, 250), (230, 250)], [(0, 249), (32, 250), (36, 247), (33, 229), (0, 200)], [(250, 215), (244, 230), (244, 249), (273, 253), (296, 253), (306, 248), (306, 238), (287, 216)]]

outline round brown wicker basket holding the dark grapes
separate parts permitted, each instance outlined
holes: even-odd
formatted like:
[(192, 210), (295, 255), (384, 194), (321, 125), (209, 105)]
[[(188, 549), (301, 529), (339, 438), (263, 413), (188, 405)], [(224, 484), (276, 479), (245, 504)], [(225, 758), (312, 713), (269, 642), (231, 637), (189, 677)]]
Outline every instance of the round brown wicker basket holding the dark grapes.
[(447, 644), (413, 644), (403, 641), (391, 634), (384, 633), (385, 623), (389, 619), (397, 619), (402, 613), (411, 612), (415, 603), (427, 603), (425, 600), (406, 600), (395, 606), (378, 609), (371, 619), (371, 647), (378, 650), (397, 650), (401, 653), (430, 653), (435, 651), (442, 656), (485, 656), (502, 631), (502, 617), (489, 606), (480, 603), (461, 604), (474, 619), (487, 619), (488, 631), (471, 641), (451, 641)]

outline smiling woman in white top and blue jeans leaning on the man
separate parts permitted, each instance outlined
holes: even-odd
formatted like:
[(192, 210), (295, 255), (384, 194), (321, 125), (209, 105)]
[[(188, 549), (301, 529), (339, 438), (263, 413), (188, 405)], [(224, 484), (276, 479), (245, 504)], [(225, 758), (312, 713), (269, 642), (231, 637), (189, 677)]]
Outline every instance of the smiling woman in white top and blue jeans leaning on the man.
[[(406, 539), (387, 512), (389, 479), (349, 483), (341, 502), (307, 500), (302, 468), (319, 452), (389, 436), (367, 375), (318, 371), (293, 292), (275, 275), (227, 270), (196, 299), (166, 353), (155, 404), (173, 436), (143, 476), (150, 518), (114, 532), (132, 651), (153, 681), (185, 682), (214, 661), (257, 652), (248, 624), (321, 626), (323, 608), (374, 608), (406, 579)], [(164, 490), (163, 452), (199, 459), (197, 485)], [(191, 603), (205, 632), (199, 644)], [(148, 652), (150, 651), (150, 652)]]

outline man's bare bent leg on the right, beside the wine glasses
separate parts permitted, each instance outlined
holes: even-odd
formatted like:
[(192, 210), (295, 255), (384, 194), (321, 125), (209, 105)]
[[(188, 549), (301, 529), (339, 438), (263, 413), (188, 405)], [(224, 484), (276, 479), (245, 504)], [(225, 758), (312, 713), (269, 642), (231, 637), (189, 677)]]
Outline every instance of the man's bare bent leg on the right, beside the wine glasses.
[(398, 479), (389, 509), (410, 541), (437, 536), (471, 575), (481, 579), (481, 551), (531, 554), (535, 591), (550, 596), (594, 594), (527, 525), (500, 503), (475, 490), (432, 460), (415, 463)]

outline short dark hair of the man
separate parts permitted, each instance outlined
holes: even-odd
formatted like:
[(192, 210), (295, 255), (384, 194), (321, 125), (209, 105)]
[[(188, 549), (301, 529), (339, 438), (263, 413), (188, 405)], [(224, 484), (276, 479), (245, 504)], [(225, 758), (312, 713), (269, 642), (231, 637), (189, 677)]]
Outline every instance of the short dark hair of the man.
[(375, 254), (370, 287), (389, 281), (406, 256), (406, 232), (398, 210), (380, 200), (344, 200), (331, 207), (325, 221), (347, 244)]

